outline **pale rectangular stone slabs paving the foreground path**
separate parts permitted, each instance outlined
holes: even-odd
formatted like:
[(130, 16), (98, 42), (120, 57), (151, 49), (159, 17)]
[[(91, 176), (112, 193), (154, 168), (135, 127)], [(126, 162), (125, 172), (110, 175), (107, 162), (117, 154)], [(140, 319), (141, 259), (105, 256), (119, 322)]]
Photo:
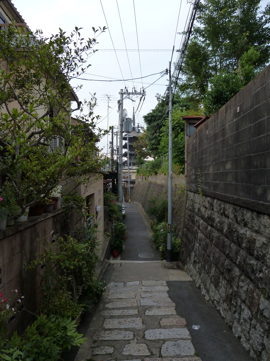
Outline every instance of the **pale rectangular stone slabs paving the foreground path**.
[(167, 291), (165, 280), (109, 283), (76, 361), (201, 361)]

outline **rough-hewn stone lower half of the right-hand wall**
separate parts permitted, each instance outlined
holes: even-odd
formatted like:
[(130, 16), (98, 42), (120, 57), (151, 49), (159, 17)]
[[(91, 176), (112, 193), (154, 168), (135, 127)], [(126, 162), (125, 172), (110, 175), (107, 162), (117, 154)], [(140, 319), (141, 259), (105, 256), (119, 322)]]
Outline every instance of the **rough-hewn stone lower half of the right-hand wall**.
[(181, 261), (256, 360), (270, 359), (270, 216), (188, 192)]

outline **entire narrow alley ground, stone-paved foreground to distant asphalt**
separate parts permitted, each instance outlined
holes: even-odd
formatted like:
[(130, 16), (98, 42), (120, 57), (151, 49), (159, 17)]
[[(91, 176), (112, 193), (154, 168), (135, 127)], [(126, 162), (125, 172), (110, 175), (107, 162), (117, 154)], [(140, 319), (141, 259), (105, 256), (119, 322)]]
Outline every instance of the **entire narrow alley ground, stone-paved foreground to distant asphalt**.
[(158, 261), (139, 206), (125, 205), (125, 249), (110, 260), (107, 291), (75, 360), (251, 361), (193, 280)]

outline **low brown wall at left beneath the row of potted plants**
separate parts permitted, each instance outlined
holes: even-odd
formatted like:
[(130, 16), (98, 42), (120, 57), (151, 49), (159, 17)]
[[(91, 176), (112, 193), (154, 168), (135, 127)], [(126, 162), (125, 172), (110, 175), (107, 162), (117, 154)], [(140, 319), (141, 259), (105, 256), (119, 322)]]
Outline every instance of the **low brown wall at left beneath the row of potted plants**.
[[(70, 218), (72, 229), (76, 219)], [(40, 279), (36, 272), (24, 270), (24, 264), (35, 259), (43, 246), (51, 244), (58, 236), (69, 231), (64, 208), (42, 216), (28, 217), (27, 222), (17, 223), (0, 232), (0, 292), (10, 299), (10, 304), (17, 299), (12, 290), (18, 290), (18, 296), (24, 296), (23, 308), (9, 324), (11, 331), (23, 331), (32, 321), (40, 304)], [(38, 270), (41, 271), (42, 270)]]

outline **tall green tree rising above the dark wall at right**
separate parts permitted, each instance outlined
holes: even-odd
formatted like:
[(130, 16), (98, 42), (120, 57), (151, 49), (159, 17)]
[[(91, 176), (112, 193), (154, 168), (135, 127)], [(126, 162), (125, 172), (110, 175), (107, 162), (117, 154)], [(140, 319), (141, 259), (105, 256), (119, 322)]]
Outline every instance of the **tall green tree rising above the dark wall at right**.
[[(269, 62), (269, 6), (261, 12), (259, 3), (259, 0), (199, 3), (179, 82), (179, 91), (187, 101), (201, 103), (211, 82), (216, 84), (217, 76), (222, 83), (232, 72), (237, 74), (239, 62), (251, 48), (260, 54), (256, 60), (250, 59), (254, 75)], [(237, 14), (238, 8), (241, 16)]]

